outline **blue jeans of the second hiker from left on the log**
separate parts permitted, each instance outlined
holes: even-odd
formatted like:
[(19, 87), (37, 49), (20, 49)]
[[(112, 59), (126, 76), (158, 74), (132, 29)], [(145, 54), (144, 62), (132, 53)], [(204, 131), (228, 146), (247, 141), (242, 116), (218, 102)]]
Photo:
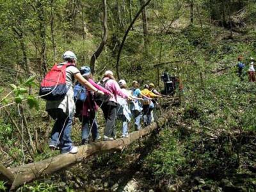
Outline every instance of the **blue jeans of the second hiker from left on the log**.
[(89, 140), (90, 131), (92, 132), (93, 140), (99, 138), (98, 124), (95, 116), (83, 116), (82, 126), (82, 140)]

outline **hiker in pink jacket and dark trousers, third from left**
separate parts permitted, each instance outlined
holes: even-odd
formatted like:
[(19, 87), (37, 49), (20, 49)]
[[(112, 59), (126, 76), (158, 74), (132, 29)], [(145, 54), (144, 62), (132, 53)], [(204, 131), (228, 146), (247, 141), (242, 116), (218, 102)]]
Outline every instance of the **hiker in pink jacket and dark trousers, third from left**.
[(115, 81), (115, 77), (113, 76), (113, 72), (111, 72), (111, 70), (107, 70), (105, 72), (102, 82), (104, 83), (104, 87), (114, 95), (113, 97), (111, 97), (111, 99), (109, 99), (108, 102), (104, 102), (101, 108), (106, 120), (103, 140), (108, 141), (114, 140), (116, 137), (115, 119), (117, 110), (117, 95), (124, 99), (131, 100), (132, 97), (120, 88), (118, 83)]

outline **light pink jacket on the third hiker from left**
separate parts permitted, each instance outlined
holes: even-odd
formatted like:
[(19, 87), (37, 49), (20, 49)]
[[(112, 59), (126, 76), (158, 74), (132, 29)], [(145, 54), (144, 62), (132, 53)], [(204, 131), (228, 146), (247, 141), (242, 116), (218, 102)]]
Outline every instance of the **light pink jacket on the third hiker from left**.
[[(109, 79), (109, 77), (104, 77), (104, 79), (102, 79), (102, 81), (106, 81), (107, 79)], [(109, 92), (111, 92), (114, 95), (114, 97), (111, 97), (109, 99), (110, 101), (113, 101), (113, 102), (117, 103), (117, 100), (116, 100), (117, 95), (119, 95), (120, 97), (122, 97), (124, 99), (127, 99), (127, 97), (129, 97), (129, 95), (127, 93), (125, 93), (120, 88), (119, 84), (113, 79), (109, 79), (107, 81), (107, 83), (105, 84), (105, 88), (107, 90), (109, 90)]]

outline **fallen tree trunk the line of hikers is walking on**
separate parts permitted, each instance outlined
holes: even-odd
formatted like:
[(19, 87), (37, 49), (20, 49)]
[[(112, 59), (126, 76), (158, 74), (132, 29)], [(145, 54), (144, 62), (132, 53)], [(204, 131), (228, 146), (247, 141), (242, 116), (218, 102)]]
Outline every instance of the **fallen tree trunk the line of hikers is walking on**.
[(111, 150), (123, 150), (127, 145), (130, 145), (132, 142), (143, 136), (147, 136), (154, 131), (154, 129), (157, 129), (157, 127), (162, 127), (171, 117), (171, 111), (166, 111), (164, 115), (158, 118), (157, 123), (153, 123), (140, 131), (131, 132), (128, 138), (82, 145), (78, 147), (77, 154), (61, 154), (36, 163), (24, 164), (16, 168), (11, 168), (10, 171), (15, 175), (11, 189), (15, 189), (17, 186), (38, 177), (42, 177), (43, 175), (57, 172), (62, 168), (67, 168), (93, 154)]

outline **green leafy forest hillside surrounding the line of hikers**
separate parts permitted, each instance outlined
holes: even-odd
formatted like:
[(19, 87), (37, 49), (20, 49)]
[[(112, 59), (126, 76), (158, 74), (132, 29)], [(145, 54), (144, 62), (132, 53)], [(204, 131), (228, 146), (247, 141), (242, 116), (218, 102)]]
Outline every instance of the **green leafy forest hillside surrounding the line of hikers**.
[[(93, 53), (106, 35), (104, 2), (108, 36), (94, 66)], [(117, 62), (125, 31), (145, 3), (149, 4), (132, 25)], [(129, 85), (137, 80), (162, 89), (154, 67), (162, 62), (171, 63), (163, 65), (160, 74), (168, 68), (182, 79), (182, 102), (173, 106), (172, 122), (156, 136), (154, 148), (136, 167), (154, 183), (152, 188), (255, 190), (256, 84), (246, 78), (241, 82), (236, 74), (237, 56), (243, 55), (247, 66), (250, 56), (256, 57), (255, 16), (256, 3), (250, 0), (0, 1), (1, 106), (30, 98), (30, 103), (0, 109), (1, 163), (17, 166), (54, 155), (47, 148), (52, 120), (44, 112), (44, 100), (35, 98), (36, 84), (70, 50), (76, 53), (79, 67), (94, 66), (97, 80), (104, 70), (113, 70)], [(36, 76), (35, 84), (26, 84), (31, 74)], [(20, 90), (24, 87), (27, 92)], [(100, 125), (104, 125), (102, 120)], [(21, 148), (19, 129), (24, 130), (28, 147)], [(76, 143), (80, 134), (77, 121), (72, 137)], [(147, 143), (141, 145), (147, 147)], [(120, 154), (110, 154), (95, 157), (91, 163), (115, 161), (109, 170), (129, 167), (120, 162), (138, 160), (129, 156), (136, 147), (122, 154), (123, 160)], [(74, 169), (73, 180), (78, 172)], [(77, 188), (67, 179), (54, 179)], [(92, 178), (86, 180), (86, 184), (76, 182), (78, 188), (93, 186)], [(111, 189), (115, 183), (109, 185)]]

